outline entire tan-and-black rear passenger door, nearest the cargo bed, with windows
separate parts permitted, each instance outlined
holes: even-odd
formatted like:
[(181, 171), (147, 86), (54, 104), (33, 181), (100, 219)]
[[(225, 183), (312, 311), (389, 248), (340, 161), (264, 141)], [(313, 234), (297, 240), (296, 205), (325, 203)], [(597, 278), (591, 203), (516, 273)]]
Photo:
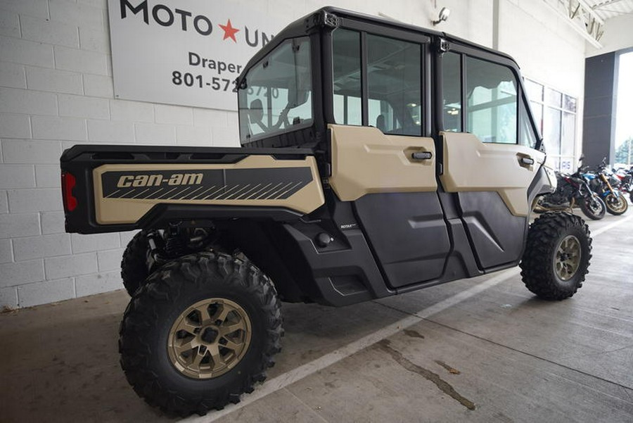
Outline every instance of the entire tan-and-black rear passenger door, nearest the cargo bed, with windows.
[(437, 279), (451, 243), (425, 118), (428, 37), (351, 26), (332, 34), (329, 183), (341, 201), (353, 202), (392, 288)]

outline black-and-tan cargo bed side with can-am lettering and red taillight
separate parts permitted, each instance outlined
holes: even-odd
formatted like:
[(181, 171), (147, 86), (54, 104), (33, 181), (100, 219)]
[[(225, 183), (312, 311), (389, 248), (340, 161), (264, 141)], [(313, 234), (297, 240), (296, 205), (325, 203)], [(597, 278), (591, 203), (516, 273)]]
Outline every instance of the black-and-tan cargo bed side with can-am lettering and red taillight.
[(324, 203), (309, 149), (79, 145), (60, 164), (67, 232), (296, 217)]

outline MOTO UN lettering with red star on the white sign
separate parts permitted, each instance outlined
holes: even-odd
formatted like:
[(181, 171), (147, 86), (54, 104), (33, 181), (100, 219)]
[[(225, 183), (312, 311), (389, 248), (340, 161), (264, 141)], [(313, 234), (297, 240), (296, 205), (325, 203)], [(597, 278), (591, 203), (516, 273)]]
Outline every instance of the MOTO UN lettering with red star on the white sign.
[[(248, 46), (260, 48), (265, 46), (274, 37), (258, 29), (253, 30), (247, 25), (236, 25), (227, 18), (226, 23), (218, 23), (221, 31), (215, 30), (215, 23), (206, 15), (180, 8), (170, 8), (165, 4), (148, 5), (148, 0), (141, 2), (133, 0), (120, 0), (121, 19), (141, 17), (143, 22), (150, 25), (151, 22), (162, 27), (179, 27), (182, 31), (195, 31), (207, 37), (214, 32), (219, 32), (223, 41), (230, 40), (237, 43), (243, 39)], [(242, 38), (243, 37), (243, 38)]]

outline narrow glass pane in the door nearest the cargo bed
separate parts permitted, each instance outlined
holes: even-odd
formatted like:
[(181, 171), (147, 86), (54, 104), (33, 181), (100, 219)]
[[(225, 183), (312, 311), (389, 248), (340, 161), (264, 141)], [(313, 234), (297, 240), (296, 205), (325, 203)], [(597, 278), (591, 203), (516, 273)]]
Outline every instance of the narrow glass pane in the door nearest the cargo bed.
[(362, 125), (360, 32), (335, 30), (332, 49), (335, 122)]

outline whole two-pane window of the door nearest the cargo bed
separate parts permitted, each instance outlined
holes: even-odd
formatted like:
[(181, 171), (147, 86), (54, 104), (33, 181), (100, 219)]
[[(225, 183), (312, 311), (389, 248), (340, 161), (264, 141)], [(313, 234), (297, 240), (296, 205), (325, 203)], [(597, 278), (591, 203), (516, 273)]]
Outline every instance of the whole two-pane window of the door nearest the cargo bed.
[(421, 136), (421, 44), (339, 28), (332, 34), (332, 50), (336, 123)]

